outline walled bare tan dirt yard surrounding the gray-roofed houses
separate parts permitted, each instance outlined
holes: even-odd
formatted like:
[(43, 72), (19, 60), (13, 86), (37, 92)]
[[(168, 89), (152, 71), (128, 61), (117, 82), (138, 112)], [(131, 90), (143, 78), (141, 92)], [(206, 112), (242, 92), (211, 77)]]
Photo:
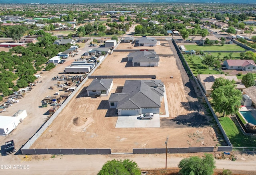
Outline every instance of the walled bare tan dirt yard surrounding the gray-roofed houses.
[[(170, 117), (160, 118), (160, 128), (115, 128), (118, 116), (111, 113), (109, 96), (86, 95), (85, 89), (92, 82), (89, 79), (31, 148), (111, 148), (112, 152), (132, 152), (132, 148), (165, 147), (166, 136), (170, 139), (168, 147), (218, 144), (171, 41), (159, 41), (156, 47), (121, 43), (117, 49), (155, 49), (160, 55), (159, 66), (132, 67), (127, 59), (129, 52), (113, 52), (93, 75), (156, 75), (165, 85)], [(114, 79), (111, 92), (124, 82), (125, 79)], [(165, 113), (164, 107), (160, 113)]]

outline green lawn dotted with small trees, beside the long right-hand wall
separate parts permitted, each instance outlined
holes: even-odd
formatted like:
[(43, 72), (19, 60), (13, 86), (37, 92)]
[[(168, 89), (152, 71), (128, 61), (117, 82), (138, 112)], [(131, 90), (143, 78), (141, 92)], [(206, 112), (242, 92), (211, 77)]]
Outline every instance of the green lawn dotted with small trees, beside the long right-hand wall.
[[(184, 55), (192, 73), (194, 74), (194, 76), (197, 76), (198, 75), (198, 72), (196, 71), (196, 69), (194, 68), (194, 66), (192, 65), (191, 61), (189, 60), (190, 58), (192, 58), (192, 61), (194, 61), (194, 63), (196, 64), (197, 66), (197, 69), (199, 69), (202, 73), (200, 74), (220, 74), (219, 71), (216, 71), (216, 70), (213, 70), (214, 68), (213, 67), (210, 67), (210, 69), (208, 69), (206, 67), (206, 65), (203, 65), (201, 63), (202, 59), (200, 59), (199, 55)], [(202, 56), (201, 56), (202, 57)], [(202, 57), (203, 58), (203, 57)]]

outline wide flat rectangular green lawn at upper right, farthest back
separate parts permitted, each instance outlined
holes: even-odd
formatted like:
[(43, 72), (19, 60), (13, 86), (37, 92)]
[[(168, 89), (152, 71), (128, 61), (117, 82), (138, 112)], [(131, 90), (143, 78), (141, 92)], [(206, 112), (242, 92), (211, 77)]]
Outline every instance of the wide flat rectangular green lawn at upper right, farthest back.
[(200, 51), (245, 51), (244, 48), (235, 44), (221, 45), (184, 45), (186, 50), (200, 50)]

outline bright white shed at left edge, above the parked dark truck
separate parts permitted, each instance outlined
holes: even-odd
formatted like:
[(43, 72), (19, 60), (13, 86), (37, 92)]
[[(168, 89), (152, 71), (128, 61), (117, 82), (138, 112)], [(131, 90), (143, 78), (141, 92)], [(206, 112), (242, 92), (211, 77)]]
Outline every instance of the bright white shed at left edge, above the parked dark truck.
[(18, 110), (13, 116), (0, 116), (0, 136), (12, 132), (26, 116), (28, 116), (26, 110)]

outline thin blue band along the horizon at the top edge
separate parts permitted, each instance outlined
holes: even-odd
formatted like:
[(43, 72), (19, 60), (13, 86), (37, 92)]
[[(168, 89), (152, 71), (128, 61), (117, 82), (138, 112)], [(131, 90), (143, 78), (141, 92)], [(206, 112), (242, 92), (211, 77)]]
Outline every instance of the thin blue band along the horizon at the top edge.
[(190, 2), (190, 3), (254, 3), (256, 0), (0, 0), (0, 3), (122, 3), (122, 2)]

